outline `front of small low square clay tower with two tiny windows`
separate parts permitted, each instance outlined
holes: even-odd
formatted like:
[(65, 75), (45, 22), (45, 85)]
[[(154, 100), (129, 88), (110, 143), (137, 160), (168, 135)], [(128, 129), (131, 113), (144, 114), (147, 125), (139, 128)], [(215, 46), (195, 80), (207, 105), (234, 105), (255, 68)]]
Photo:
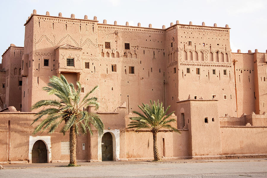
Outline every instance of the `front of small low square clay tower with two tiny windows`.
[[(189, 140), (192, 156), (220, 155), (221, 136), (217, 100), (185, 100), (178, 104), (190, 107), (188, 123)], [(186, 108), (186, 107), (184, 107)]]

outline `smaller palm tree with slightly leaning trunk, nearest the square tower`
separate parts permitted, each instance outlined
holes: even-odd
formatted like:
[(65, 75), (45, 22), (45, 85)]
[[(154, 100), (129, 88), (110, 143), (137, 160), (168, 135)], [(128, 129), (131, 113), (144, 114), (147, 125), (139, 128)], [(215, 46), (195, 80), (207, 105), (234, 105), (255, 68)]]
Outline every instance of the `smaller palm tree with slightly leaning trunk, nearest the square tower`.
[(180, 131), (174, 127), (172, 127), (169, 123), (176, 122), (175, 118), (169, 118), (173, 112), (166, 115), (170, 106), (164, 111), (164, 107), (162, 107), (162, 102), (155, 102), (152, 104), (150, 100), (150, 105), (143, 104), (142, 106), (138, 107), (141, 109), (141, 112), (133, 111), (137, 116), (130, 117), (132, 121), (128, 124), (128, 128), (135, 128), (135, 131), (139, 129), (147, 129), (152, 132), (153, 135), (153, 153), (154, 153), (154, 160), (159, 161), (160, 156), (158, 154), (158, 146), (157, 146), (157, 133), (160, 129), (166, 128), (169, 131), (177, 132), (181, 134)]

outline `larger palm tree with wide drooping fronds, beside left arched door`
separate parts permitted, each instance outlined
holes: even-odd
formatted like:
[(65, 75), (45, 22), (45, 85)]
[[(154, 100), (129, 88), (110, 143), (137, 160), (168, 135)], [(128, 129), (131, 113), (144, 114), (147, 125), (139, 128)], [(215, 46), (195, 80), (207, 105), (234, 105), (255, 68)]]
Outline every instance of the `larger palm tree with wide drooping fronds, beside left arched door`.
[(39, 131), (43, 132), (47, 128), (49, 128), (48, 133), (51, 134), (59, 126), (61, 127), (60, 133), (63, 135), (69, 130), (69, 165), (73, 164), (76, 166), (76, 134), (79, 134), (79, 132), (83, 134), (89, 132), (92, 135), (93, 131), (91, 130), (90, 124), (96, 128), (99, 135), (103, 135), (104, 133), (104, 124), (100, 117), (95, 113), (83, 109), (88, 106), (93, 106), (96, 110), (98, 109), (99, 104), (97, 98), (89, 97), (96, 90), (97, 86), (86, 93), (81, 100), (80, 82), (76, 82), (77, 90), (75, 90), (74, 85), (68, 83), (66, 78), (60, 75), (60, 77), (52, 76), (47, 85), (47, 87), (43, 87), (43, 90), (47, 91), (48, 95), (55, 94), (58, 99), (40, 100), (31, 107), (32, 110), (44, 107), (35, 115), (36, 119), (33, 123), (43, 116), (45, 117), (36, 126), (33, 134)]

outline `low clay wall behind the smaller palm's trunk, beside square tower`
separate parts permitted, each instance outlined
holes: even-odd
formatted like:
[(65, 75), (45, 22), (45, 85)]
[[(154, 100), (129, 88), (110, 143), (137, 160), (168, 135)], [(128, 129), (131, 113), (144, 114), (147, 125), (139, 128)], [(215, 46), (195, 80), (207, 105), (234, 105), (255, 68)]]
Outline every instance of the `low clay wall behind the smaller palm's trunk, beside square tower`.
[[(187, 157), (188, 130), (181, 130), (181, 135), (172, 132), (158, 132), (157, 144), (160, 157)], [(126, 145), (128, 160), (153, 158), (153, 136), (150, 132), (126, 131)]]

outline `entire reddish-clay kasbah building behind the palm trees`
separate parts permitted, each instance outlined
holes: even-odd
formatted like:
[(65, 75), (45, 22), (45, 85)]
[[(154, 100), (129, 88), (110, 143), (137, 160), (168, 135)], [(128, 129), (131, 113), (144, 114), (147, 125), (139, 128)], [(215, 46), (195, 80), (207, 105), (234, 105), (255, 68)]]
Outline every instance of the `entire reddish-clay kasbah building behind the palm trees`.
[(42, 87), (60, 74), (83, 92), (99, 86), (101, 108), (85, 109), (102, 118), (106, 142), (96, 130), (79, 134), (78, 161), (153, 158), (152, 134), (127, 128), (150, 100), (171, 105), (181, 131), (158, 133), (162, 158), (266, 157), (267, 53), (232, 53), (228, 25), (177, 20), (158, 29), (34, 10), (24, 26), (24, 47), (11, 44), (0, 66), (0, 163), (69, 160), (68, 134), (32, 135), (30, 107), (54, 98)]

